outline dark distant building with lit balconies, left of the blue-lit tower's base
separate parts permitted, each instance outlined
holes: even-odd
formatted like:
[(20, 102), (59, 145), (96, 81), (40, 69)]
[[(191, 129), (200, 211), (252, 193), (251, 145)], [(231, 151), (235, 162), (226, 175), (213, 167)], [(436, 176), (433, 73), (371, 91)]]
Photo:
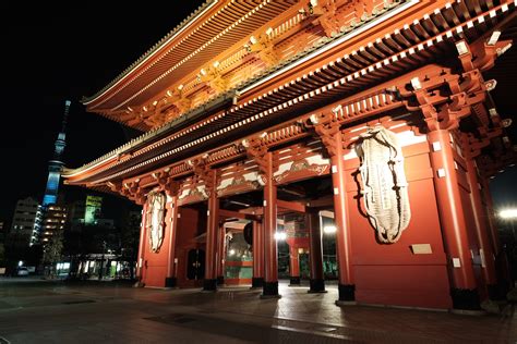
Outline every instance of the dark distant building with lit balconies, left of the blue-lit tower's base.
[(33, 197), (20, 199), (14, 209), (9, 234), (14, 246), (32, 246), (36, 243), (41, 225), (41, 207)]

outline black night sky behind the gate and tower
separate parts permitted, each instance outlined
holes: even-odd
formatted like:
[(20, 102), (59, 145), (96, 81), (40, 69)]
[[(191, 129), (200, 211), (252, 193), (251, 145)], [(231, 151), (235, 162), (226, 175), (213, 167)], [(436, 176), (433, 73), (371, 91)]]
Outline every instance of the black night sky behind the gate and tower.
[[(65, 99), (72, 100), (67, 167), (89, 162), (135, 135), (115, 122), (86, 113), (80, 99), (106, 86), (202, 2), (0, 4), (4, 103), (0, 221), (10, 220), (19, 198), (41, 199), (47, 161), (52, 157)], [(509, 106), (516, 108), (514, 99)], [(496, 179), (497, 183), (505, 182), (494, 185), (500, 204), (517, 204), (516, 175), (510, 171)], [(79, 192), (70, 192), (74, 193)]]

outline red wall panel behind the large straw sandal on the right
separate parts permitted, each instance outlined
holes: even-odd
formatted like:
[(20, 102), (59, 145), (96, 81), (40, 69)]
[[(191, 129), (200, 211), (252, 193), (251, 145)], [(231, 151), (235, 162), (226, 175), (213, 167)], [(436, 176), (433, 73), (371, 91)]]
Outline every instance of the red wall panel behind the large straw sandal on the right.
[[(411, 221), (395, 244), (380, 244), (364, 216), (356, 176), (359, 159), (347, 161), (356, 298), (364, 304), (450, 308), (446, 257), (434, 194), (429, 146), (404, 147)], [(361, 211), (359, 210), (361, 209)], [(430, 244), (432, 254), (416, 255), (412, 244)]]

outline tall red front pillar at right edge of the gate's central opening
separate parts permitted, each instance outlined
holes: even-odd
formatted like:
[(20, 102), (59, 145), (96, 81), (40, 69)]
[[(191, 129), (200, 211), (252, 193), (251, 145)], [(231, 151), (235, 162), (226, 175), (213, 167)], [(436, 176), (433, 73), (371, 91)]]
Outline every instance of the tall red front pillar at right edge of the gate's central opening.
[(275, 238), (277, 228), (276, 185), (273, 183), (273, 153), (265, 155), (267, 171), (264, 186), (264, 286), (262, 297), (279, 297), (278, 294), (278, 261), (277, 242)]

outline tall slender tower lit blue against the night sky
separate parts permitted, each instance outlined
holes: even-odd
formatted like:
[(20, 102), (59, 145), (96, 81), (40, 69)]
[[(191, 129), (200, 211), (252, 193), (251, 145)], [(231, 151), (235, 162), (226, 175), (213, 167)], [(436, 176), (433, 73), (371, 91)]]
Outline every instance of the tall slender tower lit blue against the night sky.
[(58, 200), (58, 191), (59, 191), (59, 180), (61, 177), (61, 170), (63, 168), (63, 162), (61, 157), (64, 150), (65, 143), (65, 130), (67, 130), (67, 118), (70, 110), (70, 100), (64, 102), (64, 116), (61, 126), (61, 132), (58, 135), (58, 139), (55, 144), (53, 158), (48, 162), (48, 180), (47, 188), (45, 191), (45, 196), (41, 206), (47, 208), (50, 205), (55, 205)]

